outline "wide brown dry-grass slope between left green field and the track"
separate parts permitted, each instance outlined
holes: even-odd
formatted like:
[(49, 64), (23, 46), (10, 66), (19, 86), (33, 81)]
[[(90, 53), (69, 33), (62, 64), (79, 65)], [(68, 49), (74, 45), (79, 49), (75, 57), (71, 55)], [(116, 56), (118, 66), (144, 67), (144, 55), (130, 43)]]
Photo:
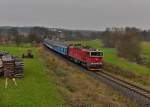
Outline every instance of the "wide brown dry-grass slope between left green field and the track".
[(48, 73), (53, 75), (59, 91), (72, 107), (137, 107), (119, 93), (80, 72), (51, 53), (39, 48)]

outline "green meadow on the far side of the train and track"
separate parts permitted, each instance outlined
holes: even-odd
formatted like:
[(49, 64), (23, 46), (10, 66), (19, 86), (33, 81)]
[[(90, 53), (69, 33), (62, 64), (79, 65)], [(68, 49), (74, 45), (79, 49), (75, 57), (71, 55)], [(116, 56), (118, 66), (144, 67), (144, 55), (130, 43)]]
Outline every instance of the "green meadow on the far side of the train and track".
[[(103, 48), (102, 42), (100, 40), (91, 40), (91, 41), (70, 41), (69, 43), (82, 43), (84, 45), (89, 45), (91, 47), (100, 49), (104, 51), (104, 61), (112, 63), (116, 66), (119, 66), (125, 70), (133, 71), (137, 74), (142, 74), (142, 75), (150, 75), (150, 68), (129, 62), (126, 59), (119, 58), (117, 56), (117, 51), (116, 49), (113, 48)], [(142, 44), (142, 52), (144, 52), (145, 55), (150, 57), (150, 43), (143, 43)]]

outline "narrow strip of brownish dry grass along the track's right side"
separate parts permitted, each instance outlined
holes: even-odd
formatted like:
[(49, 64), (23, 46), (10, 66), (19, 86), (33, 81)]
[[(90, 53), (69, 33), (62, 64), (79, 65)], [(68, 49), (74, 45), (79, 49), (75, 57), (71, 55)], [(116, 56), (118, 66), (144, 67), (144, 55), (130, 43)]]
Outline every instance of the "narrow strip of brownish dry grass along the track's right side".
[(105, 62), (103, 69), (107, 72), (114, 74), (126, 81), (130, 81), (134, 84), (137, 84), (141, 87), (145, 87), (146, 89), (150, 89), (150, 77), (149, 75), (140, 75), (133, 71), (118, 67), (111, 63)]

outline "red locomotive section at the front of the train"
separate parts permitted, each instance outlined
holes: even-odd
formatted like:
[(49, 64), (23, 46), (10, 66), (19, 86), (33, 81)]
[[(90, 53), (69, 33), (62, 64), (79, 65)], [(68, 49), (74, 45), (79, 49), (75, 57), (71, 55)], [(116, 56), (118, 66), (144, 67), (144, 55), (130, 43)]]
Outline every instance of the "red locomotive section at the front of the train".
[(103, 62), (103, 52), (82, 46), (70, 46), (68, 56), (89, 70), (99, 70)]

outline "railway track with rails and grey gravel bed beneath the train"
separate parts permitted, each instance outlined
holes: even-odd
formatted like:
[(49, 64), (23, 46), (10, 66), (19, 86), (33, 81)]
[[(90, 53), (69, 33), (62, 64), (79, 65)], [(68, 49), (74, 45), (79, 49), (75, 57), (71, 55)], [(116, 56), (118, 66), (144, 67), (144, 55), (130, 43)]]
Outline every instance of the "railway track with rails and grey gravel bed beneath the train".
[(135, 84), (132, 84), (123, 79), (120, 79), (104, 70), (100, 70), (100, 72), (88, 71), (85, 68), (79, 66), (78, 64), (75, 64), (72, 61), (65, 59), (60, 54), (56, 54), (55, 52), (52, 52), (52, 51), (51, 53), (55, 54), (57, 57), (61, 58), (65, 62), (70, 63), (72, 66), (79, 68), (80, 71), (85, 72), (89, 74), (90, 76), (94, 77), (95, 79), (111, 86), (113, 89), (120, 91), (122, 94), (124, 94), (126, 97), (129, 97), (131, 100), (135, 101), (141, 107), (150, 107), (150, 91), (149, 90), (146, 90)]

